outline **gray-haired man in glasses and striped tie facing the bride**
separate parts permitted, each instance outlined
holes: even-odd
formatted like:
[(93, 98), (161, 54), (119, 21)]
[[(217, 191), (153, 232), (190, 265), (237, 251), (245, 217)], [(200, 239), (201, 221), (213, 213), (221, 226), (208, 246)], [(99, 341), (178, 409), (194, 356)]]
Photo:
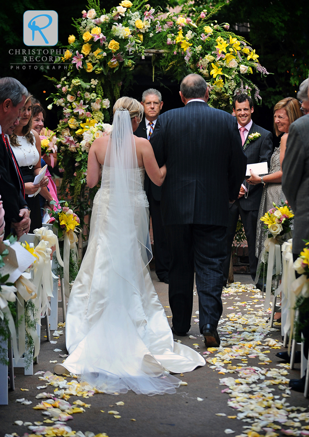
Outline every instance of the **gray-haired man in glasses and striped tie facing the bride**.
[[(150, 140), (155, 129), (156, 120), (163, 106), (161, 93), (154, 88), (147, 89), (142, 94), (141, 104), (144, 106), (144, 117), (134, 134)], [(155, 273), (160, 282), (168, 284), (170, 262), (167, 239), (161, 217), (161, 187), (151, 182), (146, 173), (144, 189), (149, 202), (149, 212), (153, 227)]]

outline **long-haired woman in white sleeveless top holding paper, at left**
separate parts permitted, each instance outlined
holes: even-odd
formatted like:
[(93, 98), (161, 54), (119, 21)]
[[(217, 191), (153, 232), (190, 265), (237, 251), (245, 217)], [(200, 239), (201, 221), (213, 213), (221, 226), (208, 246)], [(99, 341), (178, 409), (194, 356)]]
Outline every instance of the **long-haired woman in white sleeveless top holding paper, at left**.
[(39, 135), (32, 131), (32, 102), (31, 95), (25, 101), (21, 111), (18, 126), (9, 136), (12, 151), (15, 154), (25, 183), (25, 200), (31, 210), (30, 233), (42, 226), (40, 203), (37, 196), (33, 195), (41, 187), (48, 185), (48, 177), (44, 177), (39, 185), (34, 185), (34, 178), (41, 169), (41, 141)]

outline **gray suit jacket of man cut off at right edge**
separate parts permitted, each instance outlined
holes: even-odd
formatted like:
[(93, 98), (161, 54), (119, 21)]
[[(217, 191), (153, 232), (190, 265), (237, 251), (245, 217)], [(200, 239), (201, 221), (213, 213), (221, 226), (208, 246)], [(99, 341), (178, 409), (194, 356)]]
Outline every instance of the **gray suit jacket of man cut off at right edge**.
[(282, 171), (282, 190), (295, 214), (293, 253), (299, 254), (309, 238), (309, 115), (290, 126)]

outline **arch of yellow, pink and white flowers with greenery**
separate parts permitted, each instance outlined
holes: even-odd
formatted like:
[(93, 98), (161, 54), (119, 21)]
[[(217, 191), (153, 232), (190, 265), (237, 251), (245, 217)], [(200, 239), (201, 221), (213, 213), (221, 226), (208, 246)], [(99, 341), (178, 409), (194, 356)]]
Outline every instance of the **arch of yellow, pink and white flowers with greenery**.
[[(191, 8), (189, 10), (189, 7)], [(158, 8), (159, 9), (159, 8)], [(99, 0), (74, 20), (76, 31), (60, 62), (68, 64), (57, 91), (50, 98), (59, 107), (57, 127), (60, 166), (74, 203), (86, 213), (87, 153), (95, 137), (110, 129), (113, 103), (133, 82), (133, 69), (145, 56), (156, 72), (181, 80), (189, 73), (203, 75), (210, 86), (210, 106), (231, 111), (233, 96), (246, 92), (258, 101), (259, 90), (250, 80), (256, 70), (268, 74), (258, 55), (240, 36), (218, 24), (211, 13), (194, 12), (185, 4), (181, 13), (162, 14), (145, 1), (123, 0), (109, 13)], [(88, 203), (87, 203), (88, 205)]]

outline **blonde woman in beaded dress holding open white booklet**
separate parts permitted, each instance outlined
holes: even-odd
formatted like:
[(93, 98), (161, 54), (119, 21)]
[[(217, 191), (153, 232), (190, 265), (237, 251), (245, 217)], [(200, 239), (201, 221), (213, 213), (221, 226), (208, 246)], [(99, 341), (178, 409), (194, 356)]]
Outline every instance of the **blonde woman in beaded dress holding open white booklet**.
[[(293, 121), (301, 117), (303, 114), (300, 110), (300, 103), (293, 97), (287, 97), (278, 101), (274, 106), (274, 129), (277, 136), (281, 136), (279, 147), (271, 157), (269, 174), (266, 176), (257, 176), (253, 171), (251, 177), (248, 179), (249, 184), (264, 184), (262, 199), (259, 207), (258, 217), (262, 217), (275, 204), (285, 202), (286, 198), (281, 187), (282, 170), (281, 165), (285, 155), (287, 139), (289, 135), (289, 128)], [(256, 256), (262, 252), (265, 240), (265, 230), (263, 222), (257, 220), (257, 239), (256, 239)]]

